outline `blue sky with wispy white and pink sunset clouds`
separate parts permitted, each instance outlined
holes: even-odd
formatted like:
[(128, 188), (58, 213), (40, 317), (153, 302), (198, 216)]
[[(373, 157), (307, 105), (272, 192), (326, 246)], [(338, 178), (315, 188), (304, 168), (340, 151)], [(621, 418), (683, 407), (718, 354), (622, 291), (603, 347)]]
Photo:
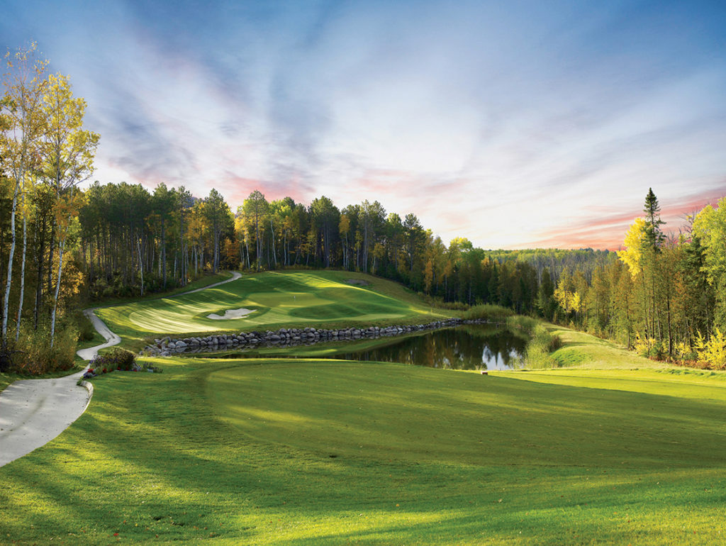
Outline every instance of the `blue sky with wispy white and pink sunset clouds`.
[(101, 141), (92, 180), (378, 200), (444, 243), (621, 246), (726, 195), (726, 2), (3, 0)]

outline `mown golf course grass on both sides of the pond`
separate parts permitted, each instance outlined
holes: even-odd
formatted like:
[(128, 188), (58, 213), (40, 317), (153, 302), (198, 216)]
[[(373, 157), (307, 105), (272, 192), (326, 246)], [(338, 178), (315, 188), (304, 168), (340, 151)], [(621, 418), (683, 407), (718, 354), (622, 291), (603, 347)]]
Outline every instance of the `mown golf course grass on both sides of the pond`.
[[(252, 312), (208, 318), (234, 309)], [(134, 351), (457, 316), (338, 271), (96, 312)], [(73, 425), (0, 468), (0, 543), (723, 544), (726, 373), (547, 328), (560, 367), (488, 375), (285, 349), (139, 356), (163, 372), (94, 378)]]

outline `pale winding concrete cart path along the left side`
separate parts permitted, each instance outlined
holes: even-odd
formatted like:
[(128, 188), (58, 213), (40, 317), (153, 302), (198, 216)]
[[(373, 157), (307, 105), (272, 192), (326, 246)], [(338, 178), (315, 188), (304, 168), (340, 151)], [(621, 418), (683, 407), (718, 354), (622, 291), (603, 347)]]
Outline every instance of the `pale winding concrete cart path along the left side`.
[[(233, 272), (231, 279), (171, 297), (224, 285), (240, 277), (242, 274)], [(121, 338), (96, 316), (96, 309), (85, 309), (83, 314), (89, 317), (106, 343), (77, 351), (76, 354), (84, 360), (91, 360), (99, 349), (121, 343)], [(0, 392), (0, 466), (44, 446), (81, 417), (93, 396), (90, 383), (86, 382), (86, 387), (76, 384), (85, 371), (64, 378), (15, 381)]]

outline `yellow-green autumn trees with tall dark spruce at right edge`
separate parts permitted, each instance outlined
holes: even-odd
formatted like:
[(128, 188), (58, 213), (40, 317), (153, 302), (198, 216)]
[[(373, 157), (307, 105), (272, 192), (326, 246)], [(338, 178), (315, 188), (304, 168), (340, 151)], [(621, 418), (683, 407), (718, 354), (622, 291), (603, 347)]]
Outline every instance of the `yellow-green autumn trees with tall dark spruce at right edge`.
[(726, 197), (666, 235), (653, 190), (618, 259), (565, 269), (542, 285), (544, 317), (616, 339), (658, 359), (726, 367)]

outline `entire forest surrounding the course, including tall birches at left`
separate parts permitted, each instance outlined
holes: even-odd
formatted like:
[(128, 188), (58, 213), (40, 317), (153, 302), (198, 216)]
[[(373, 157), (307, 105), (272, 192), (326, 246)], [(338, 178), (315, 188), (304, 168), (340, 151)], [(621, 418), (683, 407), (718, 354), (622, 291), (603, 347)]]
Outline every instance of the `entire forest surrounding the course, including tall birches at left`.
[(304, 267), (367, 272), (432, 305), (496, 304), (647, 356), (726, 367), (726, 199), (666, 232), (649, 190), (613, 253), (446, 245), (415, 213), (376, 200), (338, 208), (254, 190), (233, 211), (214, 189), (88, 185), (99, 135), (83, 129), (86, 103), (34, 53), (11, 57), (0, 103), (0, 366), (14, 351), (28, 366), (70, 366), (89, 302), (221, 269)]

